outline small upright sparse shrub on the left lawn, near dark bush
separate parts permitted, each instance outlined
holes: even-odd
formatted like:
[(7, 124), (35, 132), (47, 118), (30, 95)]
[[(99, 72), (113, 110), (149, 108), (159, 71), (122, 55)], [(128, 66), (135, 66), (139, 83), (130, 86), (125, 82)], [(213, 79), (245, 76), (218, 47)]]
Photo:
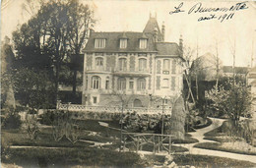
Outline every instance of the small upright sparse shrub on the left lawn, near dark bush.
[(25, 130), (28, 139), (35, 140), (39, 134), (39, 126), (36, 115), (27, 115), (25, 121)]

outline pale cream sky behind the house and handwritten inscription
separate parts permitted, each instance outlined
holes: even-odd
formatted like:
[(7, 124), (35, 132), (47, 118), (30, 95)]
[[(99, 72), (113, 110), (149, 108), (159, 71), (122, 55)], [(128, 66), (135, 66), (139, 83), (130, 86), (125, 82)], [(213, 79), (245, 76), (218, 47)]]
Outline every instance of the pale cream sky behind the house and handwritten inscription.
[[(1, 39), (5, 35), (11, 36), (18, 24), (23, 24), (30, 19), (31, 15), (22, 8), (25, 1), (4, 0), (2, 2)], [(200, 1), (81, 0), (81, 2), (89, 4), (94, 9), (97, 20), (96, 31), (142, 31), (152, 13), (152, 16), (157, 17), (160, 28), (164, 22), (165, 41), (178, 43), (182, 34), (185, 46), (191, 47), (195, 53), (198, 46), (199, 56), (208, 52), (216, 54), (216, 43), (218, 43), (219, 57), (224, 65), (232, 65), (232, 51), (235, 48), (236, 66), (250, 65), (252, 55), (254, 66), (256, 66), (256, 2), (245, 2), (246, 9), (243, 10), (204, 13), (195, 13)], [(184, 12), (170, 15), (174, 7), (180, 6), (182, 2), (180, 10)], [(229, 9), (231, 6), (237, 8), (236, 3), (238, 2), (202, 1), (201, 8)], [(188, 14), (194, 5), (196, 5), (195, 10)], [(216, 18), (198, 21), (201, 17), (211, 18), (211, 15), (215, 15)], [(219, 18), (224, 15), (226, 17), (221, 22)], [(228, 15), (229, 18), (226, 20)]]

